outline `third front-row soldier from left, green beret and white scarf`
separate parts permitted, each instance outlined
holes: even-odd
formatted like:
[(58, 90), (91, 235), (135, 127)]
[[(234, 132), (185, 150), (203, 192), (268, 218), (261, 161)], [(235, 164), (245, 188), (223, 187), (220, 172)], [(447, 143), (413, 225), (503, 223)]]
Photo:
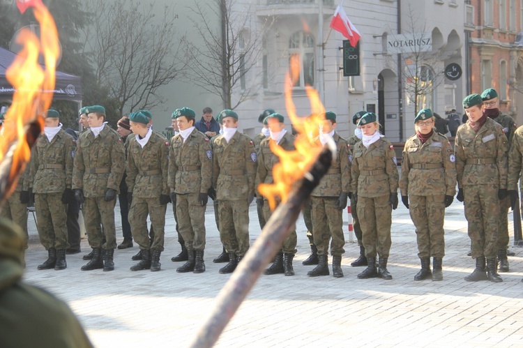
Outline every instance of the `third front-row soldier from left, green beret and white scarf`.
[[(167, 167), (169, 142), (148, 128), (149, 113), (133, 112), (130, 127), (135, 136), (129, 138), (127, 153), (129, 222), (132, 236), (142, 250), (142, 260), (131, 271), (160, 271), (160, 254), (164, 250), (165, 211), (169, 203)], [(149, 240), (147, 215), (154, 229), (153, 243)]]

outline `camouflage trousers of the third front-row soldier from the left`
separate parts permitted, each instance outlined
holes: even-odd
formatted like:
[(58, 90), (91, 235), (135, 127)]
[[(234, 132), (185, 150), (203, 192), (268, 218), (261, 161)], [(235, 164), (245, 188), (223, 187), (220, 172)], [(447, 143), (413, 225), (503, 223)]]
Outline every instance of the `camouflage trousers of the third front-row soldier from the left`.
[[(160, 197), (132, 197), (128, 217), (131, 226), (132, 239), (138, 243), (140, 250), (163, 251), (166, 211), (167, 204), (160, 204)], [(154, 230), (152, 244), (149, 239), (149, 231), (147, 230), (147, 215), (151, 218), (151, 229)]]

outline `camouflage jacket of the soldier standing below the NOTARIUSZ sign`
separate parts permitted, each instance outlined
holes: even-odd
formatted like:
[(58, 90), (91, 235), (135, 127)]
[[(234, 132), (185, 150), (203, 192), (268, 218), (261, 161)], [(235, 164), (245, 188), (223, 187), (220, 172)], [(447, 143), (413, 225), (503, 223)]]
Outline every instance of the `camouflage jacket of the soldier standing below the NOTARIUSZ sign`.
[(417, 135), (405, 142), (400, 190), (402, 196), (456, 193), (456, 158), (448, 139), (434, 132), (425, 144)]

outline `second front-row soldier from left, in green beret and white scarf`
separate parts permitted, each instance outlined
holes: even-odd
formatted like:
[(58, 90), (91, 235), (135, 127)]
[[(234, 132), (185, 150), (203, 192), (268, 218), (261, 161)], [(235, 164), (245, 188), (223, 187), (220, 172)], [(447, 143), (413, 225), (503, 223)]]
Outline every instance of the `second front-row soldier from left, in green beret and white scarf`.
[(105, 107), (86, 107), (86, 114), (90, 129), (78, 138), (73, 169), (75, 198), (84, 203), (85, 229), (93, 248), (93, 257), (82, 271), (112, 271), (116, 248), (114, 206), (126, 155), (119, 134), (105, 124)]

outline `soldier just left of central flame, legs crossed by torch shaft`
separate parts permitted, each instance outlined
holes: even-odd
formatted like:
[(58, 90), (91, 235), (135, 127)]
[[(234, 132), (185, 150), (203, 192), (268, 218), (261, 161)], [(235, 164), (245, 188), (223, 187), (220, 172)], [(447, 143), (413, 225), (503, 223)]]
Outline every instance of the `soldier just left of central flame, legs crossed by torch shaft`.
[[(285, 151), (294, 151), (294, 138), (290, 133), (285, 130), (284, 118), (278, 113), (271, 114), (264, 120), (268, 124), (268, 128), (271, 131), (270, 136), (261, 141), (258, 152), (258, 168), (256, 183), (272, 184), (273, 180), (273, 167), (276, 163), (280, 162), (280, 158), (276, 156), (271, 148), (269, 147), (270, 142), (276, 142)], [(261, 195), (257, 192), (257, 199), (261, 199)], [(268, 221), (271, 218), (271, 208), (268, 206), (268, 201), (264, 198), (263, 209), (265, 220)], [(267, 268), (264, 274), (277, 274), (284, 273), (285, 275), (294, 275), (294, 268), (292, 266), (292, 259), (296, 254), (296, 226), (291, 227), (290, 233), (283, 241), (282, 249), (276, 254), (273, 264)], [(285, 255), (285, 257), (284, 257)]]

